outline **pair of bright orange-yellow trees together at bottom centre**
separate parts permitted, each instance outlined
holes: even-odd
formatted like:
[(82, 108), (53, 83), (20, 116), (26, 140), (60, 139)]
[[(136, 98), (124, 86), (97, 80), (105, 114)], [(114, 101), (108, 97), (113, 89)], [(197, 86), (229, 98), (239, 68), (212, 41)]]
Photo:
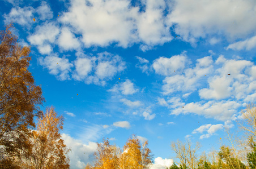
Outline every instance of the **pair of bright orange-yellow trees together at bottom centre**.
[(86, 168), (146, 169), (152, 163), (151, 150), (147, 146), (148, 141), (141, 145), (139, 139), (132, 135), (121, 152), (116, 145), (110, 145), (108, 139), (103, 139), (103, 143), (97, 143), (95, 166), (87, 164)]

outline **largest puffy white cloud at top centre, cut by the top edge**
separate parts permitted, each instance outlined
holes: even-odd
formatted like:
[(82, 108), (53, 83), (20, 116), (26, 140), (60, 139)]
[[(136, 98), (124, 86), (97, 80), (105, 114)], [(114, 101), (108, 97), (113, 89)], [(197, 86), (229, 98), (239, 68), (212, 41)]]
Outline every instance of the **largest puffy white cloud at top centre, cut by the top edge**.
[(72, 25), (82, 34), (85, 46), (108, 46), (113, 42), (117, 46), (128, 47), (142, 42), (142, 50), (153, 45), (171, 41), (169, 27), (165, 24), (165, 2), (145, 1), (145, 11), (131, 6), (130, 1), (72, 1), (67, 12), (60, 17), (63, 24)]

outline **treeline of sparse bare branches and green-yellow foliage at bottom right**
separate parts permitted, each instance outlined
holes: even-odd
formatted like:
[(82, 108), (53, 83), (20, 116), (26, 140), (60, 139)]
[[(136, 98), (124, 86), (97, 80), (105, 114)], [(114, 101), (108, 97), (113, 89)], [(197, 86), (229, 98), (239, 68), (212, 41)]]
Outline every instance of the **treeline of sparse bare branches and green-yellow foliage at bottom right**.
[(229, 145), (222, 145), (220, 138), (220, 148), (218, 151), (212, 150), (207, 154), (203, 152), (198, 155), (200, 144), (191, 143), (187, 139), (185, 143), (180, 140), (171, 143), (171, 149), (179, 160), (178, 165), (173, 163), (167, 169), (185, 168), (233, 168), (246, 169), (256, 168), (256, 108), (253, 104), (248, 105), (246, 112), (241, 112), (241, 119), (237, 120), (241, 129), (240, 136), (231, 133), (230, 128), (225, 127), (225, 139)]

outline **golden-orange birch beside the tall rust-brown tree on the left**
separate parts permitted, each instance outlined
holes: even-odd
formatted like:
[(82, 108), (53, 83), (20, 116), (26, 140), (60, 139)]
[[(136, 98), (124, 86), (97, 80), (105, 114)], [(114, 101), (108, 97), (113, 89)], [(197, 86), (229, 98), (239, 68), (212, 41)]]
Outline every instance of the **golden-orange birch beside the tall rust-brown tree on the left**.
[(32, 153), (25, 158), (19, 158), (23, 168), (54, 169), (69, 168), (69, 157), (64, 140), (59, 130), (63, 129), (63, 117), (57, 116), (53, 107), (38, 119), (37, 130), (32, 131)]

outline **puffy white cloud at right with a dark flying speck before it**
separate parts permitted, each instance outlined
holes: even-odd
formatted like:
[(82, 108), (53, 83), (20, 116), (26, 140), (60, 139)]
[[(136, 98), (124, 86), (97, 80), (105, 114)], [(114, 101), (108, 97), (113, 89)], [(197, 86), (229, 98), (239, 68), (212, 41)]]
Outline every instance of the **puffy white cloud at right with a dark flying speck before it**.
[(252, 63), (247, 60), (226, 60), (223, 56), (216, 63), (223, 66), (216, 69), (214, 77), (208, 78), (209, 88), (199, 90), (199, 96), (203, 99), (225, 99), (232, 95), (237, 99), (246, 97), (249, 94), (246, 89), (248, 85), (241, 83), (250, 83), (251, 79), (246, 74), (249, 74)]

